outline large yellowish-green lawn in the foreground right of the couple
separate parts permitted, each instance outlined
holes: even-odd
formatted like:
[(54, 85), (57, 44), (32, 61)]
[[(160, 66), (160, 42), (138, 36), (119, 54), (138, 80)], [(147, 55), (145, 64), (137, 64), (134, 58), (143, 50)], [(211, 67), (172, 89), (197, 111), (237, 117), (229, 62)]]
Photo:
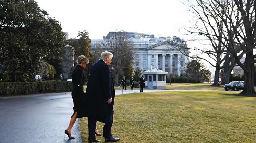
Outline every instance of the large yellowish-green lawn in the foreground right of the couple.
[[(256, 98), (236, 91), (116, 96), (112, 134), (121, 142), (256, 142)], [(103, 123), (97, 122), (102, 133)], [(88, 142), (87, 118), (80, 120)], [(104, 140), (102, 136), (96, 137)]]

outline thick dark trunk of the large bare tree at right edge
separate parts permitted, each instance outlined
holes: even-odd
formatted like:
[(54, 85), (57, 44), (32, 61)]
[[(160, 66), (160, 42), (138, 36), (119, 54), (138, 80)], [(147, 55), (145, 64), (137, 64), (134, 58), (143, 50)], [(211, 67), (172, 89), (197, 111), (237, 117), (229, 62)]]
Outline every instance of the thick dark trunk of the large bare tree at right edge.
[(253, 60), (253, 54), (246, 54), (244, 66), (247, 70), (244, 70), (244, 90), (239, 94), (256, 96), (256, 92), (254, 89), (255, 66)]

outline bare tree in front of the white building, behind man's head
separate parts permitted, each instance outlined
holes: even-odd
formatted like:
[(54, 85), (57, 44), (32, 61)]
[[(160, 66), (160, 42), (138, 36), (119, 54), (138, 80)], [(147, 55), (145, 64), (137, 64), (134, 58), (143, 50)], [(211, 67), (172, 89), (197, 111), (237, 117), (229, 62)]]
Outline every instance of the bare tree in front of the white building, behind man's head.
[(133, 63), (134, 51), (131, 38), (124, 31), (110, 32), (109, 36), (105, 37), (103, 47), (114, 55), (110, 69), (115, 75), (115, 84), (118, 84), (118, 78), (123, 73), (124, 65), (127, 62)]

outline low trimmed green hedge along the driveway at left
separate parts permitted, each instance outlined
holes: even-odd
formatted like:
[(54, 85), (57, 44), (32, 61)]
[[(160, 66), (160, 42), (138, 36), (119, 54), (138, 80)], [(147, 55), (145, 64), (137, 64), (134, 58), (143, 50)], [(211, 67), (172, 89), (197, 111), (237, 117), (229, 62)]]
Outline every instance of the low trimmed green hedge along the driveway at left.
[(73, 85), (70, 81), (1, 82), (0, 96), (70, 92), (72, 87)]

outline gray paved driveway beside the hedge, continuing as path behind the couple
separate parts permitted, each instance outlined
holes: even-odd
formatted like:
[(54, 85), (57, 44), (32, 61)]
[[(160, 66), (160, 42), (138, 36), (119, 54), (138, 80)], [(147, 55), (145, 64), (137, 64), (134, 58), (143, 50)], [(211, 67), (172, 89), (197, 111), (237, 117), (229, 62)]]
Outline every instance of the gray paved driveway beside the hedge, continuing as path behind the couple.
[[(126, 90), (123, 93), (133, 91)], [(122, 90), (116, 90), (115, 94), (122, 94)], [(1, 97), (0, 143), (82, 143), (78, 119), (72, 129), (75, 139), (64, 139), (64, 130), (73, 113), (72, 107), (71, 92)]]

